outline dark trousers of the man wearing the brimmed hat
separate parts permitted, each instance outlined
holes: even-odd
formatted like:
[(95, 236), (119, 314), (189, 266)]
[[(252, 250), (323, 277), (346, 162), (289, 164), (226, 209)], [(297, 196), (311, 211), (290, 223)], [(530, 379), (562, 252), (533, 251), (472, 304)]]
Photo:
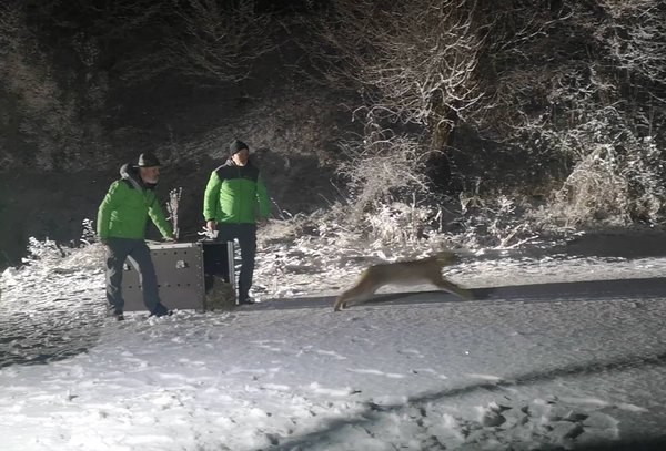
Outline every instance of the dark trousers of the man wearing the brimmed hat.
[(143, 239), (109, 238), (109, 254), (107, 257), (107, 299), (114, 310), (122, 311), (121, 284), (125, 259), (130, 260), (139, 273), (139, 280), (143, 293), (143, 304), (148, 311), (155, 311), (160, 304), (158, 291), (158, 277), (150, 258), (150, 249)]

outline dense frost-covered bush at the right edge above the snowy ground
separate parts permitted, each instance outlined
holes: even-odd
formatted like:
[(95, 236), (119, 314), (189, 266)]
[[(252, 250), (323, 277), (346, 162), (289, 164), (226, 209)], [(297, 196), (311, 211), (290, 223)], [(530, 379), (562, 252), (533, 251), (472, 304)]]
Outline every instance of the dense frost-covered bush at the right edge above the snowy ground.
[(659, 223), (666, 166), (654, 137), (642, 136), (613, 106), (581, 114), (587, 120), (564, 132), (547, 132), (573, 165), (541, 221), (567, 228)]

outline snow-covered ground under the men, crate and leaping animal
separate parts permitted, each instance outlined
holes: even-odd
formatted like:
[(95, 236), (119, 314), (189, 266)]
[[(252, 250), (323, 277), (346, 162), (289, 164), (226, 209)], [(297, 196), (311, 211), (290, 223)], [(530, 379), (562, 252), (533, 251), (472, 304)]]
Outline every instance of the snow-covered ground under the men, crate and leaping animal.
[(0, 449), (664, 449), (658, 252), (467, 255), (446, 275), (475, 300), (389, 288), (333, 312), (386, 253), (275, 244), (262, 303), (122, 322), (97, 245), (7, 269)]

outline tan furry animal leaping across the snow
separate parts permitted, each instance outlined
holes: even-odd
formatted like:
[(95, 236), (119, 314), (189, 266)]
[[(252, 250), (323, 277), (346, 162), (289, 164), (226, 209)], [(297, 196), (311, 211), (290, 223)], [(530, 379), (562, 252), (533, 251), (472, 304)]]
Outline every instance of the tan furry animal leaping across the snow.
[(442, 267), (457, 260), (450, 252), (442, 252), (432, 257), (413, 262), (396, 262), (373, 265), (365, 269), (352, 288), (342, 293), (333, 306), (334, 311), (346, 308), (350, 303), (361, 303), (370, 298), (384, 285), (416, 285), (430, 283), (444, 291), (452, 293), (464, 299), (472, 299), (472, 293), (458, 287), (442, 276)]

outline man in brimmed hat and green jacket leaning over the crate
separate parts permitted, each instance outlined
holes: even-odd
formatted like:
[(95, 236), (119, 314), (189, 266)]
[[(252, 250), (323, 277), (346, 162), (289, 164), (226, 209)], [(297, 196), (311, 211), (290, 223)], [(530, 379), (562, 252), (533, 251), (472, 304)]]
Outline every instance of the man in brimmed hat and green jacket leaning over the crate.
[(174, 239), (155, 192), (160, 162), (153, 154), (143, 153), (137, 165), (123, 165), (120, 175), (98, 211), (98, 236), (108, 248), (107, 299), (115, 319), (124, 319), (121, 284), (123, 265), (129, 259), (139, 273), (148, 311), (158, 317), (171, 315), (160, 301), (155, 268), (144, 239), (149, 217), (165, 239)]

